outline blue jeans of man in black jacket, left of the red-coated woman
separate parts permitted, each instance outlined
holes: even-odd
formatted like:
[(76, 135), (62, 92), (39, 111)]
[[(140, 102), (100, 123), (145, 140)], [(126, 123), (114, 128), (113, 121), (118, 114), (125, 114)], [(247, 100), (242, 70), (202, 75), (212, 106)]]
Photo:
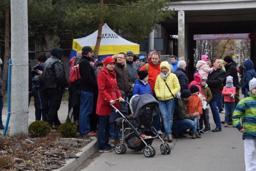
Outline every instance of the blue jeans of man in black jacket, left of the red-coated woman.
[(79, 133), (86, 135), (90, 132), (90, 114), (92, 114), (93, 93), (78, 91), (80, 93)]

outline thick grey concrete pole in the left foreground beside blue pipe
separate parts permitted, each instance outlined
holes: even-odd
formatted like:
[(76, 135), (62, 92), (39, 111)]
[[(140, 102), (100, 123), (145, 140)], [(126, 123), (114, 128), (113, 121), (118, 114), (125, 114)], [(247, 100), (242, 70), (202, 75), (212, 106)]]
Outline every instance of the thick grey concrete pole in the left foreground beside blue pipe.
[(11, 0), (10, 135), (28, 133), (28, 2)]

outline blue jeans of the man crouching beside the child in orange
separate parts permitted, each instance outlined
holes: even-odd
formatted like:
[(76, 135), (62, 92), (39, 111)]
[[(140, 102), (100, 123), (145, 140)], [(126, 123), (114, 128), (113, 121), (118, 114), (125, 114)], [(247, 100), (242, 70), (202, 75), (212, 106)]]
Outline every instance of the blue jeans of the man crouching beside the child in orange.
[(179, 134), (187, 129), (192, 129), (194, 125), (194, 121), (190, 119), (177, 119), (172, 125), (172, 131)]

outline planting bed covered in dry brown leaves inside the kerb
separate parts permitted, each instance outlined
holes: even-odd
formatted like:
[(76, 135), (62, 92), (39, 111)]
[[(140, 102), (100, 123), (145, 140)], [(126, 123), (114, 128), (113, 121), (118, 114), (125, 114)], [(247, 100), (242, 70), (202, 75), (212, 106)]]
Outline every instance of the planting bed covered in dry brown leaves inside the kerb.
[(0, 136), (0, 170), (58, 169), (67, 159), (77, 158), (76, 153), (90, 140), (90, 138), (63, 139), (53, 131), (47, 137), (38, 138), (24, 134), (13, 137)]

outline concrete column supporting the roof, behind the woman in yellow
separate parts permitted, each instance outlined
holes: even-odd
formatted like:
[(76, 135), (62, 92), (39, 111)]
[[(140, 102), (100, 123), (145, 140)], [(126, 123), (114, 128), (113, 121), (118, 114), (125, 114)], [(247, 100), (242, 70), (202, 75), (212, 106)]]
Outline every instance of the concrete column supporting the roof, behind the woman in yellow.
[[(185, 11), (178, 11), (178, 58), (185, 57)], [(178, 59), (180, 60), (180, 59)]]

